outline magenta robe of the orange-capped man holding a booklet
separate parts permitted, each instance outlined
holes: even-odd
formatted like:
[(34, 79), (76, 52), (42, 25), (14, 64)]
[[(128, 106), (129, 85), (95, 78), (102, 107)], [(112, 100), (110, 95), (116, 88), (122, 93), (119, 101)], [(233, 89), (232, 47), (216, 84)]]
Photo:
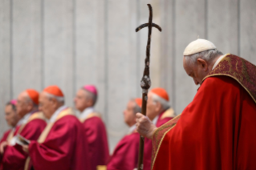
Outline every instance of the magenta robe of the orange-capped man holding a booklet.
[(75, 115), (56, 120), (42, 144), (31, 141), (29, 155), (35, 170), (91, 170), (87, 139)]

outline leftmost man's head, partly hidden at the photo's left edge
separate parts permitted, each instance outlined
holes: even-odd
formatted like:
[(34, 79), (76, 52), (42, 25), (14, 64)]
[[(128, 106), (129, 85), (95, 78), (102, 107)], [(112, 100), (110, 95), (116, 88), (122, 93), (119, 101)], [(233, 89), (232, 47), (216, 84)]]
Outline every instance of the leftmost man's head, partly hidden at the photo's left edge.
[(6, 122), (10, 127), (15, 127), (18, 123), (18, 120), (20, 119), (16, 111), (16, 103), (17, 101), (14, 99), (6, 103)]

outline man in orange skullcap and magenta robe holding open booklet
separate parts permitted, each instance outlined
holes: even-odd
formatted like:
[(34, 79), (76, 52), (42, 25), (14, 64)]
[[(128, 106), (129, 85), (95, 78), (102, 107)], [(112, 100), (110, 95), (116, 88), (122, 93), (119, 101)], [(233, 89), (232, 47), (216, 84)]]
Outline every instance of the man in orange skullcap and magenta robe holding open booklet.
[(39, 97), (39, 110), (49, 119), (38, 141), (23, 145), (29, 153), (25, 169), (90, 170), (88, 146), (83, 126), (71, 108), (64, 105), (63, 92), (57, 86), (46, 87)]

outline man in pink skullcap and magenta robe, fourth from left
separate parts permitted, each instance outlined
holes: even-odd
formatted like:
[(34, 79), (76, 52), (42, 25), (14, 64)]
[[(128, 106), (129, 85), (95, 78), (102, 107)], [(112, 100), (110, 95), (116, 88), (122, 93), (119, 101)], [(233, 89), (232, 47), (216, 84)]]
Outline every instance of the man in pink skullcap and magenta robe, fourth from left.
[(77, 91), (74, 102), (81, 113), (79, 119), (83, 123), (83, 136), (87, 137), (91, 158), (91, 168), (106, 165), (109, 157), (108, 137), (100, 114), (95, 112), (98, 92), (95, 86), (85, 85)]

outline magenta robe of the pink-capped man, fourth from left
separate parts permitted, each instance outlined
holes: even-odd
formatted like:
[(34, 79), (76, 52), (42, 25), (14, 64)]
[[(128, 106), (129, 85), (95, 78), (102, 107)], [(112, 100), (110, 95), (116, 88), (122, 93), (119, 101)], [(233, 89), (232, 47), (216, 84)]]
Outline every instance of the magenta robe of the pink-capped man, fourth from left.
[[(92, 113), (93, 114), (93, 113)], [(91, 116), (83, 122), (83, 136), (87, 136), (91, 158), (91, 169), (97, 165), (106, 165), (109, 158), (108, 137), (106, 128), (99, 116)]]

